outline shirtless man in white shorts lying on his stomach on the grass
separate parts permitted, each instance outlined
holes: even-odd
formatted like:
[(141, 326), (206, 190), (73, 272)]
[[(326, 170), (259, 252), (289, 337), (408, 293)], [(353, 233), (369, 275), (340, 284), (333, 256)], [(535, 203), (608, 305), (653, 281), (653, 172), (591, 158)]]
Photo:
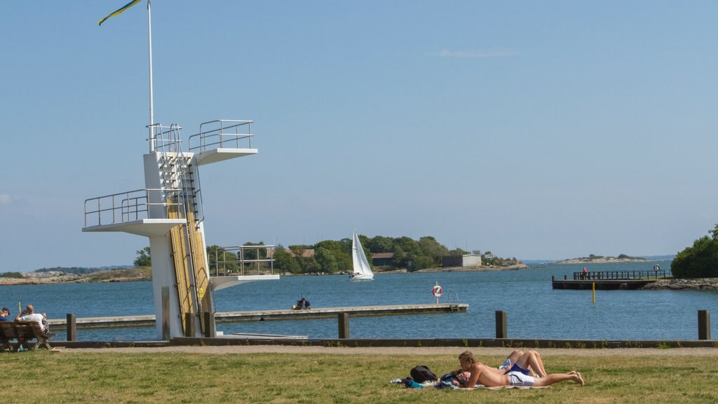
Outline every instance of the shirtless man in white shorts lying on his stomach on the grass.
[(471, 351), (462, 352), (459, 355), (459, 363), (464, 372), (469, 372), (469, 380), (460, 382), (454, 380), (453, 384), (460, 387), (476, 387), (477, 383), (485, 387), (503, 387), (503, 386), (520, 386), (520, 387), (544, 387), (553, 385), (557, 382), (573, 380), (579, 385), (584, 385), (583, 377), (575, 370), (569, 373), (554, 373), (551, 375), (541, 375), (540, 379), (524, 375), (520, 371), (509, 371), (504, 373), (495, 367), (488, 367), (474, 359)]

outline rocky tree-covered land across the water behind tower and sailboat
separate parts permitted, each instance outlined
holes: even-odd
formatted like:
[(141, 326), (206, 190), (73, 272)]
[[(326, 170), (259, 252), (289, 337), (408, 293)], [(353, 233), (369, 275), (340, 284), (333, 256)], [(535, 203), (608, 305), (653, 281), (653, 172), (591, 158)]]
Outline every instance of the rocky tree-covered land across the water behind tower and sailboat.
[[(426, 236), (418, 240), (410, 237), (366, 237), (359, 236), (367, 257), (376, 257), (373, 270), (382, 272), (439, 272), (460, 270), (512, 270), (526, 268), (516, 258), (503, 258), (490, 251), (471, 252), (463, 249), (448, 249), (434, 237)], [(247, 242), (243, 247), (264, 246), (264, 242)], [(352, 268), (352, 240), (324, 240), (317, 244), (302, 244), (274, 249), (247, 249), (245, 260), (274, 259), (275, 273), (281, 275), (332, 275), (348, 274)], [(272, 254), (273, 257), (267, 257)], [(442, 259), (447, 255), (473, 254), (481, 257), (480, 266), (443, 267)], [(225, 269), (239, 272), (240, 263), (235, 252), (225, 251), (222, 247), (207, 247), (210, 271), (217, 261), (223, 262)], [(59, 283), (59, 282), (121, 282), (128, 280), (151, 280), (151, 251), (144, 247), (136, 251), (134, 267), (118, 268), (42, 268), (34, 272), (0, 273), (0, 285), (22, 283)]]

